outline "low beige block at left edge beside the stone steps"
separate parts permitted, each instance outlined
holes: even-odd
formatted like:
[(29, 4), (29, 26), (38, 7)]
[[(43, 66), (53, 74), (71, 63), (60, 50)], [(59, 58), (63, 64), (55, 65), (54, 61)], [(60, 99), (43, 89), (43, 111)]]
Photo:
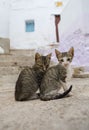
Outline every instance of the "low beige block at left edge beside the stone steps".
[(9, 54), (10, 40), (8, 38), (0, 38), (0, 54)]

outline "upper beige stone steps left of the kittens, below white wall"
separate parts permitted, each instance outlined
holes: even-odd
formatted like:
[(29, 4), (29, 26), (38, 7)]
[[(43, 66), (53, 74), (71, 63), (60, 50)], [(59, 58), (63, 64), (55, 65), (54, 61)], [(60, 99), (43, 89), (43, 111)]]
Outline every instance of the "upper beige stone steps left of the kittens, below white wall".
[(14, 50), (9, 55), (0, 55), (0, 67), (33, 65), (34, 56), (35, 52), (31, 50)]

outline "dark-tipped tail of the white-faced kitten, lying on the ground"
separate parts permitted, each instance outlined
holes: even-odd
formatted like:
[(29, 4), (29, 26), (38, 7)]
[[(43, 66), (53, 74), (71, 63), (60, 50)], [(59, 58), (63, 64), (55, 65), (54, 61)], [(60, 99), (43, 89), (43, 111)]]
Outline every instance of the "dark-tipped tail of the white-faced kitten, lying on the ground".
[(49, 100), (55, 100), (55, 99), (60, 99), (60, 98), (64, 98), (68, 95), (68, 93), (72, 90), (72, 85), (70, 86), (70, 88), (68, 90), (66, 90), (64, 93), (62, 94), (57, 94), (57, 95), (41, 95), (40, 99), (43, 101), (49, 101)]

